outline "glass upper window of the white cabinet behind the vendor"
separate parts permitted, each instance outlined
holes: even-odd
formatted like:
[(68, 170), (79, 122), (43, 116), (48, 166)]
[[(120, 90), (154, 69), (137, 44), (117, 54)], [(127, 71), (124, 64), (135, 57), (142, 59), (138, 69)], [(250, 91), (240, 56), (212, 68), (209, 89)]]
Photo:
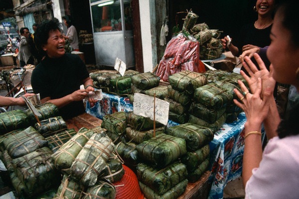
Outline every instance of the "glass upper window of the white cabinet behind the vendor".
[[(101, 0), (91, 0), (92, 19), (94, 32), (121, 31), (122, 16), (120, 0), (115, 0), (110, 5), (102, 6)], [(124, 0), (125, 29), (132, 30), (132, 11), (130, 0)]]

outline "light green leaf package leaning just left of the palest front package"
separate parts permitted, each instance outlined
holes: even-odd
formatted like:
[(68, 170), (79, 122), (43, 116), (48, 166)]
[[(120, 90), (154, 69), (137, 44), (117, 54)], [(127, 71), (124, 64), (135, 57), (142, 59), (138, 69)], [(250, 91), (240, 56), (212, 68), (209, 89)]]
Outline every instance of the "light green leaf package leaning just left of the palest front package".
[(63, 144), (53, 155), (54, 166), (62, 172), (69, 173), (73, 161), (94, 133), (102, 132), (102, 128), (81, 128), (69, 141)]

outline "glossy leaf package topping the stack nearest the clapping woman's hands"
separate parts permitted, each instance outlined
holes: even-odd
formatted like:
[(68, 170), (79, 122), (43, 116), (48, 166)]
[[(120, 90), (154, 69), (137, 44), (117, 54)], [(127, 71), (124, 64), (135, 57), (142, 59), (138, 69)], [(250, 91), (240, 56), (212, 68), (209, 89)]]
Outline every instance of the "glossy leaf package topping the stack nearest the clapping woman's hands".
[(233, 100), (233, 95), (214, 83), (195, 89), (193, 100), (211, 109), (226, 106)]

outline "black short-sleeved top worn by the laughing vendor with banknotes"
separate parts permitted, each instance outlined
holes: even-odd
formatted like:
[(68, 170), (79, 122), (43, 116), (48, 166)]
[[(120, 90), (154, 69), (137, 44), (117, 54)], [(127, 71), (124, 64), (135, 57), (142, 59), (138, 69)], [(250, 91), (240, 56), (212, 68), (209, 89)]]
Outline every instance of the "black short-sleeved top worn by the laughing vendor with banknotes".
[[(78, 55), (66, 53), (60, 58), (46, 57), (32, 72), (31, 86), (40, 98), (59, 99), (80, 89), (89, 77), (85, 64)], [(83, 101), (73, 101), (59, 108), (64, 119), (85, 112)]]

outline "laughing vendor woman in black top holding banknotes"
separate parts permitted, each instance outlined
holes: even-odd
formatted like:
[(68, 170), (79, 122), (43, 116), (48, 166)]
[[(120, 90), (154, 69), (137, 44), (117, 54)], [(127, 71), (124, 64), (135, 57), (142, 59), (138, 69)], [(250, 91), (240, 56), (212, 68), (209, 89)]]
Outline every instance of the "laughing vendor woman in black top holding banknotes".
[[(93, 81), (78, 55), (65, 53), (65, 39), (56, 18), (38, 26), (35, 35), (37, 48), (45, 58), (32, 72), (31, 85), (41, 102), (51, 102), (59, 108), (64, 119), (85, 112), (83, 99), (94, 91)], [(80, 90), (80, 85), (84, 89)], [(95, 103), (89, 99), (91, 105)]]

